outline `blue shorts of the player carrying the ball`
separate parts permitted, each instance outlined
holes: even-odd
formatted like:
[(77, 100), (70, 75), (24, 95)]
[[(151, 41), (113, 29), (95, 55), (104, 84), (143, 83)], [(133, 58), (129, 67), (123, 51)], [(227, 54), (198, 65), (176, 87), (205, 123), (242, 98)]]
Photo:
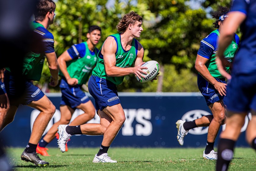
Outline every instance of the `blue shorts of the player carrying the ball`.
[(96, 111), (102, 111), (107, 106), (120, 103), (116, 85), (111, 81), (96, 76), (91, 76), (88, 82), (89, 93), (95, 99)]

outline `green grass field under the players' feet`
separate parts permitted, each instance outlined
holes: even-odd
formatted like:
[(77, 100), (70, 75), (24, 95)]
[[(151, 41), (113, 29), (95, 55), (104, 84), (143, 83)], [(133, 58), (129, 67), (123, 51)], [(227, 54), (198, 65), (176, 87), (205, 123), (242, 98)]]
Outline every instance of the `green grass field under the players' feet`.
[[(211, 171), (215, 170), (215, 161), (202, 158), (202, 148), (110, 148), (109, 156), (117, 163), (93, 163), (98, 148), (69, 148), (61, 153), (59, 148), (49, 148), (51, 156), (40, 156), (50, 163), (40, 168), (30, 162), (20, 160), (23, 148), (8, 148), (8, 154), (14, 170), (31, 171)], [(230, 170), (256, 170), (255, 152), (251, 148), (236, 148)], [(0, 168), (1, 170), (1, 168)]]

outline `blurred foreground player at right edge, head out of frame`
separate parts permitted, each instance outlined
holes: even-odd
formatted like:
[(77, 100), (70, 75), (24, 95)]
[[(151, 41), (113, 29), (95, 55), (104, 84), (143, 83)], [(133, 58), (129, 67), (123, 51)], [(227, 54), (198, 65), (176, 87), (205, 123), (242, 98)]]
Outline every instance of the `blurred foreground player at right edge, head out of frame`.
[[(250, 111), (251, 121), (246, 129), (248, 144), (256, 150), (256, 0), (235, 0), (220, 35), (217, 56), (219, 71), (230, 80), (227, 89), (226, 129), (220, 134), (217, 171), (225, 171), (233, 158), (235, 142)], [(224, 51), (240, 26), (242, 38), (233, 63), (232, 78), (223, 69), (226, 66)]]

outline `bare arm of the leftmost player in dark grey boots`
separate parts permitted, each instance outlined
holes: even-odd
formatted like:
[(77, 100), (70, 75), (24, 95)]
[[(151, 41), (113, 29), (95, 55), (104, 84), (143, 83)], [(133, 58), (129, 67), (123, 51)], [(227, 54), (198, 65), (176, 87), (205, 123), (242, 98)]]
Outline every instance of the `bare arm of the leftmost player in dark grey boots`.
[(55, 87), (59, 82), (59, 64), (57, 62), (57, 56), (55, 52), (45, 53), (45, 56), (49, 65), (50, 73), (52, 75), (49, 85)]

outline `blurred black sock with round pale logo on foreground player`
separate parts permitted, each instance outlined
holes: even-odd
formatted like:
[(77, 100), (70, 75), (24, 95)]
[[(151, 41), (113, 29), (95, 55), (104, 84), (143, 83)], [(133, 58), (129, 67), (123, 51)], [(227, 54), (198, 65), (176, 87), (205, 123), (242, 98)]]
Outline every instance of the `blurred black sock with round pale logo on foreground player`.
[(228, 170), (229, 163), (234, 155), (235, 141), (221, 138), (218, 145), (218, 160), (216, 171)]

